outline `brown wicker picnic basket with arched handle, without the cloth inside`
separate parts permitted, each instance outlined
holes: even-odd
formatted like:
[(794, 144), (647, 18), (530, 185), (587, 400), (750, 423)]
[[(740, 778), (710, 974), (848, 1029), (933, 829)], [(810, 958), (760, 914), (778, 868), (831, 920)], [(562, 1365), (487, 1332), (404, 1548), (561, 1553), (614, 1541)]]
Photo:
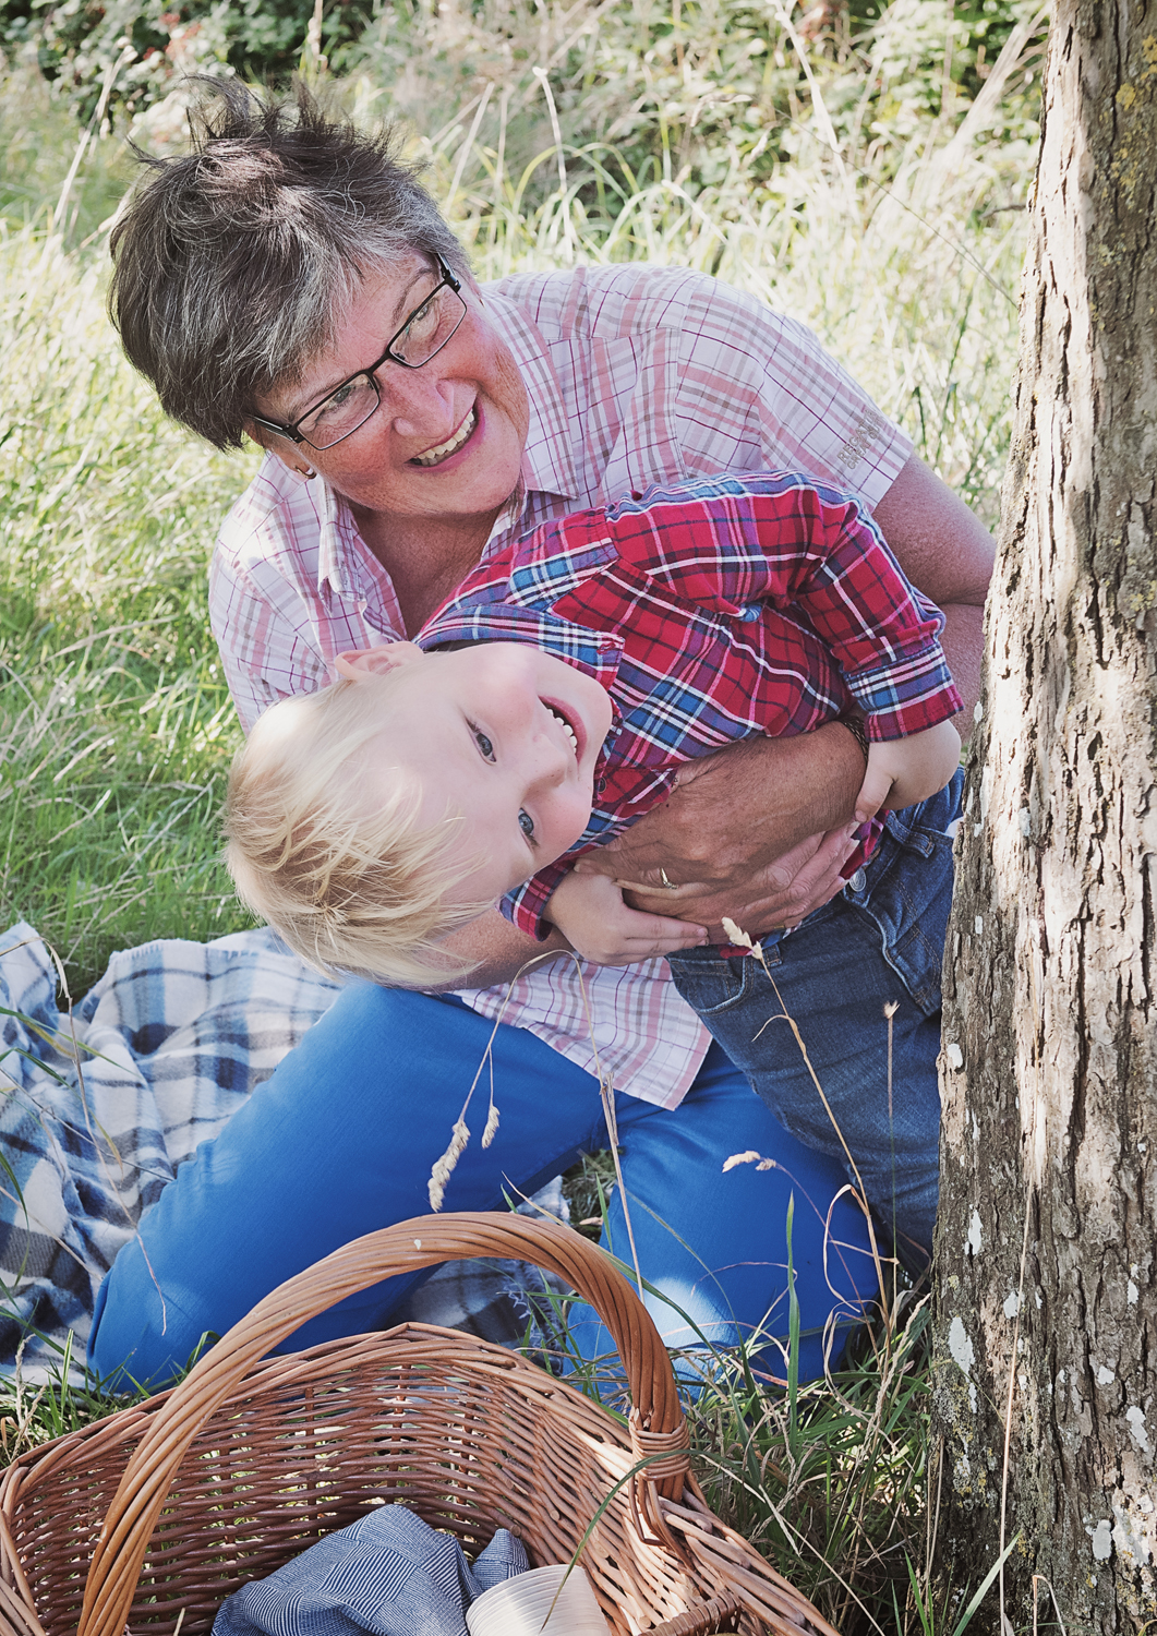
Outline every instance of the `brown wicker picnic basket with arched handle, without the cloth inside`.
[[(627, 1433), (501, 1346), (404, 1324), (260, 1361), (353, 1291), (468, 1256), (561, 1274), (601, 1314), (632, 1396)], [(583, 1553), (615, 1636), (831, 1626), (704, 1503), (668, 1355), (579, 1234), (519, 1216), (424, 1216), (288, 1279), (172, 1392), (21, 1456), (0, 1482), (3, 1636), (183, 1636), (314, 1539), (399, 1500), (468, 1551), (509, 1528), (533, 1564)], [(87, 1577), (85, 1577), (87, 1575)]]

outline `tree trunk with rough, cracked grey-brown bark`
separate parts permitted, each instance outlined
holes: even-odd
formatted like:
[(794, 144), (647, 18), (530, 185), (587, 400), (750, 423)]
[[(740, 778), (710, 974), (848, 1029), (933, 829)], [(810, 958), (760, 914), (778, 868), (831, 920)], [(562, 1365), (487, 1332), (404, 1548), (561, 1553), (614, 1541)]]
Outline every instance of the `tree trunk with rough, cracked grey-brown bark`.
[(1020, 1535), (1006, 1615), (1036, 1590), (1052, 1623), (1047, 1580), (1069, 1636), (1157, 1616), (1155, 191), (1157, 5), (1057, 0), (946, 955), (934, 1369), (954, 1582)]

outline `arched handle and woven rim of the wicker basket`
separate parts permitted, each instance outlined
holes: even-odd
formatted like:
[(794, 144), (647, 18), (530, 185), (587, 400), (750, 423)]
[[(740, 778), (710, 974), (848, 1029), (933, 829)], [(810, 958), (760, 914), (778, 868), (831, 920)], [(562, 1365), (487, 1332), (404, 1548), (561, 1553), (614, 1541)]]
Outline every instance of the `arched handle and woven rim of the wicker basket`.
[[(268, 1345), (278, 1343), (277, 1338), (270, 1340), (270, 1335), (290, 1335), (299, 1328), (304, 1320), (303, 1312), (313, 1315), (313, 1310), (324, 1310), (340, 1301), (352, 1288), (365, 1288), (389, 1271), (407, 1270), (399, 1268), (398, 1260), (430, 1265), (479, 1253), (515, 1256), (561, 1271), (566, 1281), (596, 1307), (619, 1342), (624, 1371), (630, 1382), (628, 1418), (579, 1392), (566, 1379), (547, 1373), (530, 1358), (460, 1330), (430, 1324), (404, 1322), (371, 1335), (321, 1342), (298, 1353), (262, 1356)], [(337, 1270), (342, 1270), (340, 1276)], [(90, 1559), (77, 1633), (77, 1636), (121, 1636), (155, 1521), (165, 1507), (170, 1485), (177, 1481), (185, 1451), (198, 1433), (218, 1415), (227, 1417), (231, 1407), (249, 1400), (257, 1400), (260, 1412), (262, 1394), (273, 1394), (278, 1384), (296, 1386), (311, 1378), (324, 1381), (327, 1373), (332, 1376), (334, 1366), (355, 1369), (360, 1363), (371, 1363), (378, 1353), (398, 1351), (407, 1340), (416, 1345), (416, 1361), (422, 1361), (421, 1348), (435, 1348), (439, 1361), (458, 1355), (463, 1371), (486, 1374), (493, 1369), (496, 1376), (512, 1384), (519, 1396), (525, 1389), (527, 1399), (538, 1399), (543, 1414), (569, 1420), (573, 1433), (584, 1436), (589, 1433), (596, 1441), (620, 1449), (628, 1474), (625, 1492), (630, 1495), (630, 1513), (638, 1538), (686, 1562), (691, 1562), (686, 1556), (691, 1546), (681, 1544), (681, 1539), (697, 1539), (699, 1554), (702, 1556), (702, 1549), (709, 1551), (715, 1572), (722, 1579), (733, 1580), (730, 1593), (740, 1595), (741, 1605), (750, 1610), (743, 1615), (745, 1629), (756, 1628), (751, 1625), (751, 1610), (758, 1608), (754, 1616), (772, 1629), (794, 1636), (807, 1629), (835, 1636), (818, 1610), (707, 1505), (691, 1476), (687, 1428), (678, 1404), (669, 1356), (645, 1307), (609, 1256), (569, 1227), (527, 1222), (517, 1216), (496, 1219), (491, 1214), (421, 1217), (355, 1240), (259, 1302), (254, 1312), (234, 1325), (177, 1387), (129, 1404), (88, 1427), (18, 1456), (0, 1476), (3, 1569), (0, 1580), (7, 1580), (8, 1590), (7, 1598), (0, 1595), (0, 1636), (5, 1625), (11, 1625), (11, 1618), (5, 1618), (5, 1602), (25, 1608), (25, 1625), (13, 1626), (15, 1636), (43, 1636), (36, 1603), (8, 1528), (23, 1481), (31, 1479), (34, 1471), (44, 1476), (54, 1467), (72, 1467), (79, 1459), (83, 1461), (85, 1449), (98, 1441), (110, 1446), (136, 1441)], [(638, 1410), (640, 1399), (648, 1405), (645, 1417)], [(640, 1453), (650, 1456), (655, 1464), (645, 1471), (638, 1471), (635, 1464), (632, 1474), (632, 1456), (637, 1463)], [(699, 1584), (702, 1572), (694, 1577)], [(743, 1585), (746, 1592), (736, 1589)], [(712, 1589), (700, 1593), (715, 1592)], [(735, 1605), (740, 1607), (740, 1602)], [(681, 1615), (674, 1621), (673, 1636), (676, 1628), (678, 1631), (705, 1628), (702, 1623), (687, 1623), (689, 1618), (691, 1615)]]

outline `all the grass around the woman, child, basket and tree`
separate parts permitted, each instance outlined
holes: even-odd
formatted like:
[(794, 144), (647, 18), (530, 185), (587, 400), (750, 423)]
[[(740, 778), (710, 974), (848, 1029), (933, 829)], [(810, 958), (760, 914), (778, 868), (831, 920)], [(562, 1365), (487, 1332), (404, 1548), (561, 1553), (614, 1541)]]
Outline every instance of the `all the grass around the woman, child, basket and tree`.
[[(699, 44), (658, 8), (588, 28), (556, 95), (561, 173), (533, 67), (591, 8), (509, 7), (499, 29), (484, 5), (414, 5), (365, 38), (340, 92), (375, 118), (391, 79), (424, 111), (411, 149), (479, 278), (579, 258), (715, 272), (810, 324), (993, 522), (1029, 69), (1008, 80), (997, 136), (954, 152), (962, 92), (925, 95), (948, 23), (913, 44), (916, 13), (925, 26), (951, 10), (897, 0), (859, 44), (813, 49), (813, 90), (782, 29), (763, 79), (741, 80), (741, 10), (686, 0)], [(119, 134), (95, 136), (61, 213), (77, 141), (43, 85), (0, 79), (0, 915), (56, 946), (75, 996), (115, 947), (247, 924), (218, 862), (239, 733), (205, 574), (254, 466), (165, 422), (121, 358), (103, 263), (131, 165)], [(599, 1214), (606, 1175), (573, 1178), (576, 1216)], [(774, 1389), (732, 1360), (691, 1405), (712, 1503), (844, 1631), (936, 1625), (925, 1324), (916, 1301), (887, 1302), (831, 1381)], [(0, 1392), (0, 1459), (105, 1407), (100, 1392)]]

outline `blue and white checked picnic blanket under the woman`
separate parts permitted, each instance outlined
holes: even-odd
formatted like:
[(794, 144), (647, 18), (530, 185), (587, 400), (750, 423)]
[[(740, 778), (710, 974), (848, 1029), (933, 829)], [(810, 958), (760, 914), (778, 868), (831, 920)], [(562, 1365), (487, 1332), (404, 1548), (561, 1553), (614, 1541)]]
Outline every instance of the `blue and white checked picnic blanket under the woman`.
[[(0, 933), (0, 1374), (83, 1376), (93, 1301), (172, 1181), (339, 988), (270, 931), (115, 954), (75, 1006), (23, 921)], [(537, 1207), (563, 1214), (561, 1188)], [(520, 1263), (460, 1261), (407, 1315), (517, 1345), (542, 1291)]]

